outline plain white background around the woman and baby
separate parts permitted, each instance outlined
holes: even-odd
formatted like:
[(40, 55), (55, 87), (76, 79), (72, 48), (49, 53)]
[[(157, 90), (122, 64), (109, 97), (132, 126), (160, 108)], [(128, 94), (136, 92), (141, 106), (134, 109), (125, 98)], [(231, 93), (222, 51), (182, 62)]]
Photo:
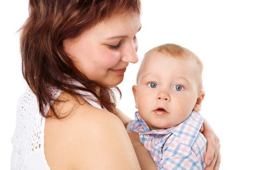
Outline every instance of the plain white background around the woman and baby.
[[(8, 170), (16, 104), (26, 84), (20, 67), (19, 34), (28, 0), (0, 2), (0, 169)], [(133, 118), (132, 85), (143, 54), (163, 43), (195, 52), (204, 64), (206, 91), (201, 114), (221, 142), (220, 170), (255, 167), (256, 10), (253, 0), (142, 0), (139, 62), (119, 85), (118, 106)]]

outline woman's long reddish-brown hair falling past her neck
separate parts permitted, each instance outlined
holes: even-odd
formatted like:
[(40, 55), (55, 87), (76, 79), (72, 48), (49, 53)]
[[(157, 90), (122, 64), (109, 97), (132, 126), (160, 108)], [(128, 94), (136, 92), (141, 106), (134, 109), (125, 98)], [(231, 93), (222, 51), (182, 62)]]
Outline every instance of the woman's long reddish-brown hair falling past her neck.
[[(140, 0), (29, 0), (29, 17), (21, 27), (20, 53), (22, 73), (29, 87), (36, 94), (39, 111), (47, 117), (48, 105), (54, 100), (49, 87), (56, 87), (71, 95), (81, 95), (78, 90), (91, 92), (101, 106), (113, 112), (116, 106), (113, 88), (86, 78), (64, 52), (62, 42), (75, 38), (83, 31), (124, 12), (140, 14)], [(70, 84), (70, 79), (83, 86)], [(100, 96), (95, 89), (100, 87)]]

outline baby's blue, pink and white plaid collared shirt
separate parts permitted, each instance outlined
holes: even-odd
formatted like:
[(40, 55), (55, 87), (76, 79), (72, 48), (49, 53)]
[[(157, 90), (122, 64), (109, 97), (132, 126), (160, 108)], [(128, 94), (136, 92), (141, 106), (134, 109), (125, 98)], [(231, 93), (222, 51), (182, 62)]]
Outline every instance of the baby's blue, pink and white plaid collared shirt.
[(137, 132), (140, 142), (149, 151), (158, 170), (204, 170), (203, 154), (206, 138), (199, 132), (203, 118), (193, 111), (177, 126), (150, 130), (147, 123), (135, 113), (135, 120), (126, 130)]

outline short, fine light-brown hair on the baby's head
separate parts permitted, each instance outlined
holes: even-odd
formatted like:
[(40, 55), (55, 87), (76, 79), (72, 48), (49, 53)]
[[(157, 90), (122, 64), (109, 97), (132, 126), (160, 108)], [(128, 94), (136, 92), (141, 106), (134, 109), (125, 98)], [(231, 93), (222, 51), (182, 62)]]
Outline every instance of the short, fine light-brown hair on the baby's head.
[[(197, 66), (198, 66), (198, 80), (199, 80), (199, 83), (198, 83), (199, 87), (198, 88), (199, 88), (199, 91), (203, 90), (203, 85), (202, 85), (203, 64), (194, 52), (192, 52), (192, 51), (190, 51), (190, 50), (188, 50), (184, 47), (181, 47), (177, 44), (163, 44), (163, 45), (155, 47), (155, 48), (149, 50), (148, 52), (146, 52), (145, 55), (144, 55), (144, 59), (148, 55), (151, 55), (151, 54), (154, 54), (154, 53), (163, 53), (163, 54), (166, 54), (166, 55), (174, 57), (174, 58), (194, 60), (197, 63)], [(144, 61), (144, 59), (143, 59), (143, 61)], [(143, 61), (142, 61), (142, 63), (143, 63)], [(141, 63), (141, 65), (142, 65), (142, 63)], [(137, 83), (138, 83), (138, 75), (140, 74), (140, 71), (141, 71), (141, 67), (138, 70)]]

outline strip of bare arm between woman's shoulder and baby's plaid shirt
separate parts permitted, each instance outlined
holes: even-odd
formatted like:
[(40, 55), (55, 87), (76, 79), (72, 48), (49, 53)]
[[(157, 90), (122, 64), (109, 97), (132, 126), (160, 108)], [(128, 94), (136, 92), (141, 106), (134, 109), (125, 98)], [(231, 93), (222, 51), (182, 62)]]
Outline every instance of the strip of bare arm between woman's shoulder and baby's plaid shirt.
[(151, 154), (147, 151), (147, 149), (143, 146), (143, 144), (139, 141), (138, 133), (136, 132), (128, 132), (128, 135), (132, 141), (135, 153), (138, 158), (139, 166), (141, 170), (157, 170), (157, 165), (151, 157)]

